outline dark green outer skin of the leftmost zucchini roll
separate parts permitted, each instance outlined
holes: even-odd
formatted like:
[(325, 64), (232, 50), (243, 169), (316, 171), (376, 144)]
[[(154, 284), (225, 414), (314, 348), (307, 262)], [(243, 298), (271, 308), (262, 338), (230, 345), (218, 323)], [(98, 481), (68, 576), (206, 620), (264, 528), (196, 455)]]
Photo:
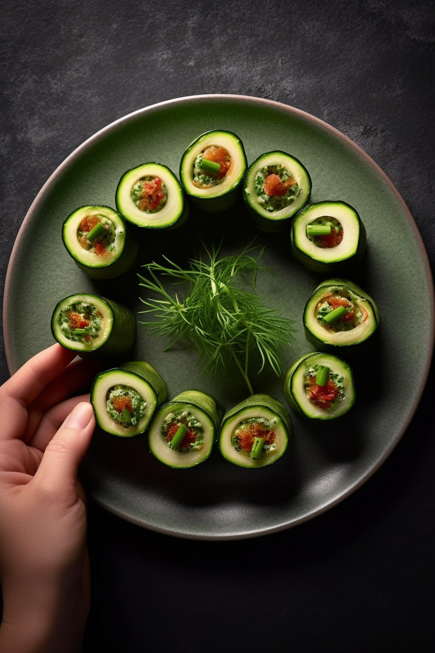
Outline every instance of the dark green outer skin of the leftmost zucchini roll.
[(107, 299), (105, 297), (102, 297), (100, 295), (90, 295), (89, 293), (83, 293), (87, 297), (91, 298), (96, 298), (97, 302), (103, 302), (110, 308), (110, 311), (112, 313), (112, 328), (110, 330), (110, 334), (108, 338), (106, 338), (106, 341), (102, 343), (99, 347), (96, 347), (95, 349), (91, 349), (89, 351), (80, 351), (76, 347), (69, 346), (67, 343), (60, 342), (59, 339), (57, 338), (57, 333), (56, 333), (56, 326), (54, 324), (54, 316), (57, 311), (57, 308), (63, 304), (63, 302), (66, 302), (68, 299), (72, 297), (76, 297), (78, 295), (70, 295), (68, 297), (65, 297), (62, 299), (60, 302), (57, 302), (54, 310), (53, 310), (53, 316), (52, 316), (52, 322), (51, 322), (51, 329), (52, 329), (52, 335), (57, 342), (59, 342), (62, 347), (65, 347), (65, 349), (71, 349), (72, 351), (76, 351), (78, 356), (80, 358), (103, 358), (103, 357), (117, 357), (117, 356), (123, 356), (126, 354), (128, 351), (133, 346), (134, 343), (134, 337), (136, 336), (136, 320), (134, 319), (134, 315), (130, 309), (125, 306), (124, 304), (121, 304), (120, 302), (115, 302), (111, 299)]

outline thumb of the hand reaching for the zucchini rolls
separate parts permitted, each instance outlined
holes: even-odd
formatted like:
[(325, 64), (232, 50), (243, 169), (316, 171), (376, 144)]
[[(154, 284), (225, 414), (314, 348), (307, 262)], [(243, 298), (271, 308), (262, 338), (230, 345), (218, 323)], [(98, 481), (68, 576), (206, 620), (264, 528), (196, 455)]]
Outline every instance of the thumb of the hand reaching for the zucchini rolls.
[(94, 427), (91, 404), (77, 404), (48, 443), (35, 479), (49, 481), (52, 489), (76, 483), (78, 466), (91, 443)]

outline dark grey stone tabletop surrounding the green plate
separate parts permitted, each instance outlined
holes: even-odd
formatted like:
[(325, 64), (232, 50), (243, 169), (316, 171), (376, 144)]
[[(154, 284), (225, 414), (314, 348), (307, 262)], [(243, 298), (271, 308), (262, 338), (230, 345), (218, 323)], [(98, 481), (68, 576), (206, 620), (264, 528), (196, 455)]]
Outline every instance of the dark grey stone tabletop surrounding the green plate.
[[(27, 208), (74, 148), (142, 106), (197, 93), (278, 100), (350, 136), (404, 197), (433, 270), (433, 9), (403, 0), (7, 0), (2, 281)], [(406, 315), (411, 306), (404, 298)], [(293, 530), (190, 542), (92, 505), (84, 650), (432, 650), (433, 396), (432, 374), (376, 475)], [(263, 563), (253, 569), (257, 555)]]

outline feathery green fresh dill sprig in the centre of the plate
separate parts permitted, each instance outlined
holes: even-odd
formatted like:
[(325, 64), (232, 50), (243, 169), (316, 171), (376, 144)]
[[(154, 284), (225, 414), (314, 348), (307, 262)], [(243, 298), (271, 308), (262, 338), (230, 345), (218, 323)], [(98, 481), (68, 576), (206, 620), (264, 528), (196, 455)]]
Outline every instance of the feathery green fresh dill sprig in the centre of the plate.
[[(204, 246), (205, 247), (205, 246)], [(249, 274), (256, 289), (259, 270), (274, 274), (270, 268), (260, 266), (256, 255), (251, 253), (258, 247), (248, 246), (240, 254), (218, 259), (220, 246), (210, 250), (205, 247), (209, 262), (190, 259), (189, 269), (183, 270), (166, 257), (168, 266), (148, 263), (151, 279), (138, 275), (140, 285), (148, 291), (158, 293), (161, 299), (141, 301), (157, 321), (144, 321), (151, 332), (170, 339), (170, 347), (180, 339), (189, 340), (201, 357), (207, 360), (209, 372), (224, 372), (232, 360), (245, 379), (249, 392), (254, 394), (248, 374), (250, 359), (259, 360), (258, 372), (269, 364), (280, 374), (278, 347), (290, 344), (293, 328), (288, 319), (279, 316), (279, 309), (262, 305), (260, 297), (248, 293), (237, 284), (237, 276)], [(162, 285), (158, 274), (169, 276), (174, 284), (182, 284), (184, 299), (178, 293), (171, 296)]]

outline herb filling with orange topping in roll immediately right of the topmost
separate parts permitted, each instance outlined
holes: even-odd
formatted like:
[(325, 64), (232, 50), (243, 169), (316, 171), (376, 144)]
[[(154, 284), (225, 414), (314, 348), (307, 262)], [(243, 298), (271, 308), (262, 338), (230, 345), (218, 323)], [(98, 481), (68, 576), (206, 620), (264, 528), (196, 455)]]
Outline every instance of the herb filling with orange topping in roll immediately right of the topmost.
[(267, 165), (258, 170), (255, 190), (259, 204), (269, 212), (280, 211), (290, 206), (301, 194), (299, 184), (280, 163)]

